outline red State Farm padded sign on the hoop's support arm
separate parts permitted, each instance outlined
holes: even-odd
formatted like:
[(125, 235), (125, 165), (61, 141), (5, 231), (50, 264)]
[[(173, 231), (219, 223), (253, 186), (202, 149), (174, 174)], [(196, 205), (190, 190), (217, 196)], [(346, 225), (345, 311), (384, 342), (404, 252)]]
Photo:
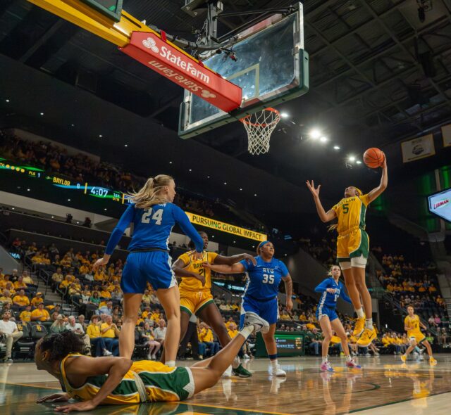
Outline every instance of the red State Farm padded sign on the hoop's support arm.
[(240, 87), (160, 39), (157, 34), (132, 32), (130, 44), (119, 49), (226, 113), (241, 105)]

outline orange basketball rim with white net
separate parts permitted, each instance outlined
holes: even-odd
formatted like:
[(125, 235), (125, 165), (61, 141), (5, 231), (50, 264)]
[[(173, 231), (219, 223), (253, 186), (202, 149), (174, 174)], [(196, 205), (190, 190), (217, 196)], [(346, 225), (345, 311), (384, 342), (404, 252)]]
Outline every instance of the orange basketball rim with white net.
[(271, 133), (280, 121), (280, 113), (274, 108), (265, 108), (259, 113), (240, 119), (247, 132), (247, 150), (252, 155), (268, 153)]

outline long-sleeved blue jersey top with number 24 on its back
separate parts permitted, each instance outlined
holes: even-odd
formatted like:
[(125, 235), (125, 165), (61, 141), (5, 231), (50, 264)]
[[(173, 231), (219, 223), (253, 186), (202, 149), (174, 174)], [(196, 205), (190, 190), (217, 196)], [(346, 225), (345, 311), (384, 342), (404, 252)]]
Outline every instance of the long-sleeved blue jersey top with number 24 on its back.
[(128, 250), (142, 248), (168, 249), (169, 236), (175, 224), (179, 224), (185, 235), (189, 236), (196, 245), (197, 252), (204, 249), (204, 241), (190, 223), (185, 212), (173, 203), (153, 205), (149, 209), (135, 208), (130, 205), (111, 233), (105, 253), (111, 255), (121, 240), (125, 229), (134, 224), (132, 241)]

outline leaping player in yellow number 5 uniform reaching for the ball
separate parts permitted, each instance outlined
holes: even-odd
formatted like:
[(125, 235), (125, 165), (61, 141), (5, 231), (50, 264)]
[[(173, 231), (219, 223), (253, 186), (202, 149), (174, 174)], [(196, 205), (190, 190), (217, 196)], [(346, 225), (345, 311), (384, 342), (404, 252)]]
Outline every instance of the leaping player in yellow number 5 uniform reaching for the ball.
[[(345, 189), (345, 198), (340, 200), (328, 212), (324, 210), (319, 191), (321, 184), (315, 188), (314, 181), (307, 181), (307, 187), (313, 195), (316, 211), (323, 222), (330, 222), (337, 218), (337, 260), (345, 276), (347, 293), (357, 313), (357, 322), (354, 327), (354, 336), (358, 337), (359, 347), (368, 347), (376, 338), (373, 328), (371, 295), (365, 282), (365, 267), (369, 255), (369, 236), (365, 231), (365, 214), (368, 205), (375, 200), (388, 185), (387, 160), (384, 155), (381, 183), (367, 194), (363, 194), (357, 187), (350, 186)], [(366, 319), (364, 310), (366, 313)]]

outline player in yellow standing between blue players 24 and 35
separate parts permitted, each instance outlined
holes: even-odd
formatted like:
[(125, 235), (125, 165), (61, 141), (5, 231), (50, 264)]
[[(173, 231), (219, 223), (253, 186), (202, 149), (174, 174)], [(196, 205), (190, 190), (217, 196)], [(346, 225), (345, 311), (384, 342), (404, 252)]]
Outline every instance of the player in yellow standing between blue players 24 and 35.
[[(224, 347), (230, 342), (227, 327), (223, 322), (221, 312), (213, 300), (211, 295), (211, 269), (204, 268), (203, 262), (216, 265), (232, 265), (242, 260), (247, 260), (249, 263), (255, 264), (255, 258), (249, 254), (233, 255), (233, 257), (223, 257), (217, 253), (206, 251), (209, 245), (209, 237), (205, 232), (199, 232), (204, 240), (204, 252), (202, 253), (202, 260), (194, 260), (190, 251), (180, 255), (173, 264), (173, 271), (176, 276), (180, 276), (180, 340), (183, 339), (187, 331), (188, 323), (192, 314), (196, 314), (202, 321), (205, 321), (218, 336), (219, 343)], [(190, 242), (190, 247), (192, 242)], [(233, 362), (233, 369), (228, 369), (226, 376), (230, 376), (230, 370), (236, 376), (249, 377), (252, 376), (240, 364), (240, 359), (237, 357)]]

